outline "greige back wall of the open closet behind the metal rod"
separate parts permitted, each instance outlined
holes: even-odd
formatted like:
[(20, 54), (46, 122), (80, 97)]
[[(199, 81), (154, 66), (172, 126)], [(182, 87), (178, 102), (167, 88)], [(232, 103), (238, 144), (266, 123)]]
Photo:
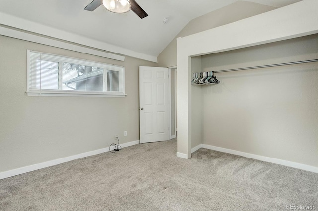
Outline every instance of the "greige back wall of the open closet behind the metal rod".
[[(203, 71), (318, 59), (318, 34), (202, 56)], [(318, 62), (216, 73), (203, 144), (318, 167)], [(193, 139), (192, 139), (193, 140)]]

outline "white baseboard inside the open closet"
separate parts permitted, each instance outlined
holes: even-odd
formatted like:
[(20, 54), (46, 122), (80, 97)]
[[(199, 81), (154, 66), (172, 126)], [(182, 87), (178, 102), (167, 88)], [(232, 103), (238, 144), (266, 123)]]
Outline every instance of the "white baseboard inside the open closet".
[(305, 164), (301, 164), (301, 163), (297, 163), (297, 162), (291, 162), (291, 161), (277, 159), (277, 158), (270, 158), (270, 157), (266, 157), (266, 156), (259, 156), (259, 155), (255, 155), (255, 154), (245, 153), (245, 152), (241, 152), (241, 151), (237, 151), (237, 150), (226, 149), (226, 148), (222, 148), (222, 147), (216, 147), (216, 146), (207, 145), (207, 144), (199, 144), (198, 146), (191, 149), (191, 153), (197, 151), (200, 148), (205, 148), (205, 149), (215, 150), (215, 151), (219, 151), (219, 152), (223, 152), (223, 153), (239, 155), (239, 156), (243, 156), (246, 158), (257, 159), (257, 160), (261, 160), (261, 161), (265, 161), (265, 162), (271, 162), (271, 163), (275, 163), (275, 164), (279, 164), (279, 165), (284, 165), (284, 166), (288, 166), (288, 167), (293, 167), (293, 168), (298, 168), (298, 169), (302, 169), (305, 171), (311, 171), (314, 173), (318, 173), (318, 167), (314, 167), (311, 165), (305, 165)]

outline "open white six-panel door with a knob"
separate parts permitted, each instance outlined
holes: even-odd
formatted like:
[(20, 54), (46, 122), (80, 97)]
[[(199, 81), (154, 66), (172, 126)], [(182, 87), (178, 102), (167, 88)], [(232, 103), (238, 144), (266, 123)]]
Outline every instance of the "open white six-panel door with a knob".
[(169, 71), (139, 67), (140, 143), (169, 140)]

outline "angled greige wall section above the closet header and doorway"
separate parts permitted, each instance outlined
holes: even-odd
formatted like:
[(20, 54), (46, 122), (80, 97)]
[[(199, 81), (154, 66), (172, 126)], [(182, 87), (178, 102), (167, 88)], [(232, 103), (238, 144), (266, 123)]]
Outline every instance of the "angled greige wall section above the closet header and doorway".
[[(238, 1), (218, 10), (191, 20), (176, 36), (185, 37), (202, 32), (244, 18), (261, 14), (275, 7), (265, 6), (258, 3)], [(172, 67), (177, 65), (177, 41), (176, 38), (158, 56), (158, 65), (161, 67)]]

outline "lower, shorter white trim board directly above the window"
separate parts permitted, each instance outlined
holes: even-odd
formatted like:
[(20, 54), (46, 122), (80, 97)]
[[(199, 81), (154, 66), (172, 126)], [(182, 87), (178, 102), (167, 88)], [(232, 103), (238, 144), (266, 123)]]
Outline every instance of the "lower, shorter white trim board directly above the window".
[(87, 54), (97, 55), (97, 56), (110, 58), (110, 59), (114, 59), (114, 60), (125, 61), (125, 56), (116, 55), (113, 53), (102, 52), (102, 51), (98, 51), (98, 50), (94, 50), (94, 49), (90, 49), (90, 48), (85, 48), (82, 46), (78, 46), (78, 45), (74, 45), (71, 43), (66, 43), (66, 42), (62, 42), (62, 41), (58, 41), (58, 40), (52, 40), (52, 39), (41, 37), (38, 35), (29, 34), (29, 33), (17, 31), (14, 29), (5, 28), (2, 26), (0, 26), (0, 35), (12, 37), (12, 38), (17, 38), (20, 40), (26, 40), (26, 41), (30, 41), (30, 42), (34, 42), (34, 43), (44, 44), (44, 45), (48, 45), (48, 46), (53, 46), (53, 47), (57, 47), (57, 48), (61, 48), (61, 49), (71, 50), (71, 51), (75, 51), (75, 52), (87, 53)]

